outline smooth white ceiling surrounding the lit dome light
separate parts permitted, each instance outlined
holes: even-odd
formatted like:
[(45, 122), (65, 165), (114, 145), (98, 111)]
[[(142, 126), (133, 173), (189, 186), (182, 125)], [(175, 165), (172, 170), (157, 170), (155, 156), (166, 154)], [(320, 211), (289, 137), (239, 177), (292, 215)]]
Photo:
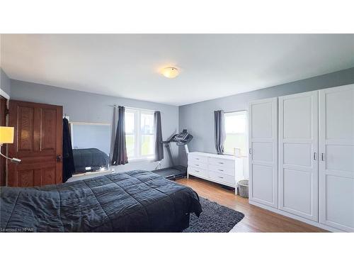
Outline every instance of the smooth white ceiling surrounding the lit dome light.
[[(166, 79), (161, 67), (181, 74)], [(1, 35), (11, 79), (183, 105), (354, 67), (350, 35)]]

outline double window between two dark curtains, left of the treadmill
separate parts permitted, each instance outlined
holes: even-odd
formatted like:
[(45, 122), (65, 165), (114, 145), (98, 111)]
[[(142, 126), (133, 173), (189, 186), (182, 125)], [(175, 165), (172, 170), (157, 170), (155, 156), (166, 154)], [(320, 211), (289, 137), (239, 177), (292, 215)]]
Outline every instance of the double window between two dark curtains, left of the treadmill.
[(154, 157), (154, 111), (125, 109), (125, 143), (131, 159)]

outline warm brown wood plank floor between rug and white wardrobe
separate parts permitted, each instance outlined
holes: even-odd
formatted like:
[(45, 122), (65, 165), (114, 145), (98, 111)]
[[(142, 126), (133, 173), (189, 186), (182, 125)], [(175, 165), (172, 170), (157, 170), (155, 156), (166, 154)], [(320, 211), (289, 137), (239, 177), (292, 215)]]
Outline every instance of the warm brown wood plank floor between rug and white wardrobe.
[(232, 190), (224, 189), (219, 184), (196, 177), (178, 179), (176, 182), (193, 188), (199, 196), (241, 211), (245, 216), (236, 224), (236, 232), (326, 232), (307, 223), (253, 206), (249, 204), (249, 199), (236, 196)]

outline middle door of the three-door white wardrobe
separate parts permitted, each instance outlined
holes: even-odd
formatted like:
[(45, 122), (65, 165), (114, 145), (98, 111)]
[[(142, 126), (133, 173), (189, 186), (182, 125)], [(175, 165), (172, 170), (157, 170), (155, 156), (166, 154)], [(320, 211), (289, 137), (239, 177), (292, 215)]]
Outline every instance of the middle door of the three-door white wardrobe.
[(318, 221), (318, 92), (279, 97), (279, 209)]

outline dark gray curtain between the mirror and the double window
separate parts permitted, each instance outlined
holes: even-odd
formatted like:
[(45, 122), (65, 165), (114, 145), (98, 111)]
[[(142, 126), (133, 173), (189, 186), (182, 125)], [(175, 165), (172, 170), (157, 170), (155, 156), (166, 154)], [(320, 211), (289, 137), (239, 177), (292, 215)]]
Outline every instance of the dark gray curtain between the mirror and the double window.
[(115, 133), (115, 143), (112, 157), (112, 165), (125, 165), (128, 163), (127, 147), (125, 145), (125, 108), (118, 106), (118, 126)]

